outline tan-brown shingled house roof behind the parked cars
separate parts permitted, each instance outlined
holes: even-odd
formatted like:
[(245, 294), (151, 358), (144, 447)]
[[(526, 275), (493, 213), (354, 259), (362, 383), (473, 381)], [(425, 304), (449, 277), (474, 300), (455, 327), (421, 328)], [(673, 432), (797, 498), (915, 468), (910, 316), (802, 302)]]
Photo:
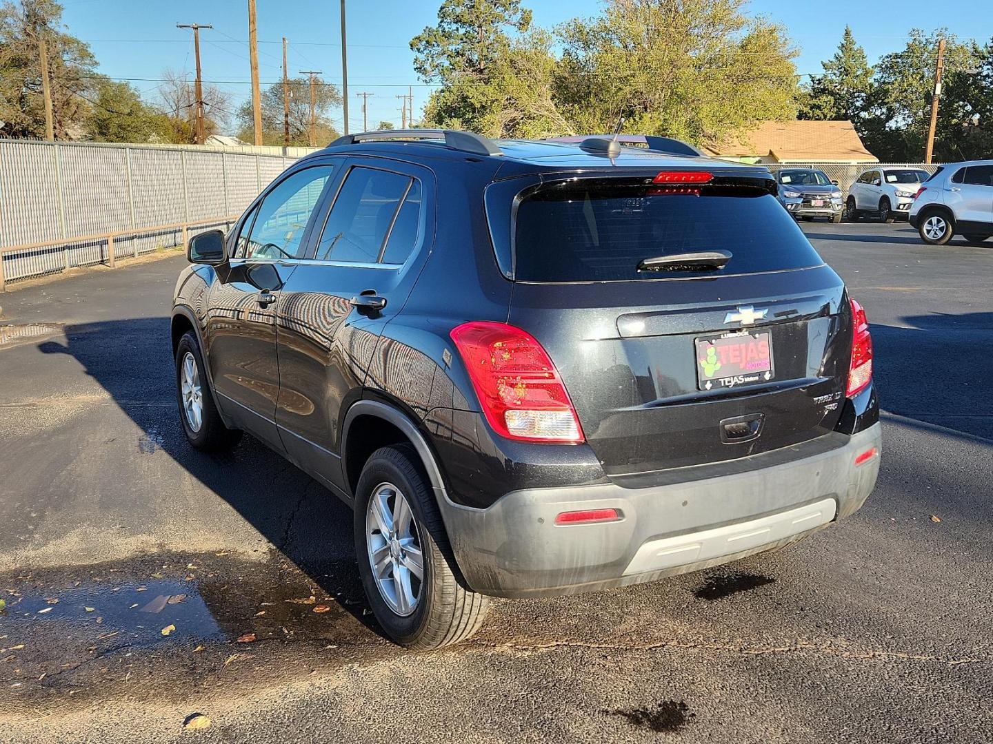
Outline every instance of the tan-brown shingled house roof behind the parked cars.
[(764, 121), (703, 150), (747, 163), (879, 163), (850, 121)]

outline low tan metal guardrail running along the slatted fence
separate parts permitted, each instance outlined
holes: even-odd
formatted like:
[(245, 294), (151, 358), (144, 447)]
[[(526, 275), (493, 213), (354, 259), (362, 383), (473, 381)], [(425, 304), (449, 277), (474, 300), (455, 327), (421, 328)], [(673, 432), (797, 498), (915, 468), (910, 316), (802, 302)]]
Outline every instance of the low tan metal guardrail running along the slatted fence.
[[(121, 237), (137, 237), (140, 235), (162, 235), (162, 234), (175, 234), (177, 231), (181, 234), (181, 242), (179, 245), (185, 246), (190, 241), (190, 230), (197, 228), (209, 228), (215, 225), (224, 225), (225, 228), (229, 227), (231, 222), (237, 220), (239, 215), (228, 215), (226, 217), (215, 217), (213, 219), (202, 219), (195, 222), (173, 222), (171, 224), (165, 225), (153, 225), (151, 227), (142, 227), (137, 230), (117, 230), (113, 232), (101, 232), (93, 235), (82, 235), (80, 237), (71, 238), (69, 240), (59, 239), (59, 240), (46, 240), (39, 243), (26, 243), (24, 245), (15, 245), (10, 248), (0, 248), (0, 292), (6, 290), (7, 278), (6, 272), (4, 270), (4, 264), (8, 263), (10, 259), (9, 256), (13, 254), (29, 254), (27, 258), (30, 258), (30, 254), (39, 254), (42, 257), (47, 257), (49, 253), (59, 253), (61, 252), (63, 256), (61, 257), (61, 265), (54, 266), (48, 270), (39, 271), (33, 276), (44, 276), (47, 274), (55, 274), (68, 269), (79, 267), (79, 266), (92, 266), (95, 264), (106, 264), (111, 269), (116, 268), (117, 259), (122, 258), (120, 252), (116, 248), (115, 239)], [(133, 242), (133, 251), (128, 252), (128, 257), (138, 258), (141, 253), (148, 253), (149, 251), (140, 251), (138, 241)], [(89, 247), (90, 260), (83, 261), (71, 261), (71, 251), (73, 250), (71, 246), (84, 246)], [(54, 250), (53, 250), (54, 249)], [(22, 258), (25, 258), (22, 256)], [(44, 261), (42, 262), (44, 265)]]

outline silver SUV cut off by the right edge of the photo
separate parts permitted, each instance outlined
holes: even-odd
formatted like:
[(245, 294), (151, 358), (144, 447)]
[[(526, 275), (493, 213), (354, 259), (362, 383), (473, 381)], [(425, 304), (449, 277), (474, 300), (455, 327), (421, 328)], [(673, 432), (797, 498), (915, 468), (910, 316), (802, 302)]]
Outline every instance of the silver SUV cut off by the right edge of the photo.
[(956, 234), (982, 243), (993, 235), (993, 160), (938, 168), (918, 189), (910, 220), (931, 245), (944, 245)]

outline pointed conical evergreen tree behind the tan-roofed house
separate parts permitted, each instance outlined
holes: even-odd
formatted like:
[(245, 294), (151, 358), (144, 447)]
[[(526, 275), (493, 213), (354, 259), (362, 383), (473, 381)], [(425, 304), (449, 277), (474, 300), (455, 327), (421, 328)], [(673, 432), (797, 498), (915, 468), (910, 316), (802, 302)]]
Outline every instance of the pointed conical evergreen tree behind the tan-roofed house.
[(865, 50), (855, 42), (852, 30), (845, 27), (838, 51), (820, 63), (824, 74), (814, 77), (800, 117), (804, 119), (847, 119), (856, 129), (865, 115), (866, 101), (872, 92), (873, 68)]

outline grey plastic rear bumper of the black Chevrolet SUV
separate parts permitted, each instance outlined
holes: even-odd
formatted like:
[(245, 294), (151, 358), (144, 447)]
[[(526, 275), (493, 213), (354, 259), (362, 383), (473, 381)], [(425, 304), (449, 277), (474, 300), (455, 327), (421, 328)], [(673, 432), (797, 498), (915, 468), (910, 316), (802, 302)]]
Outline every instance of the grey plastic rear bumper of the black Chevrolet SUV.
[[(876, 484), (880, 427), (821, 439), (829, 440), (768, 453), (777, 457), (758, 469), (742, 470), (738, 461), (723, 474), (650, 488), (520, 490), (485, 510), (445, 501), (443, 517), (463, 576), (484, 594), (569, 594), (650, 581), (787, 545), (857, 511)], [(872, 447), (876, 454), (856, 465), (856, 455)], [(616, 509), (623, 519), (555, 525), (560, 512), (586, 509)]]

